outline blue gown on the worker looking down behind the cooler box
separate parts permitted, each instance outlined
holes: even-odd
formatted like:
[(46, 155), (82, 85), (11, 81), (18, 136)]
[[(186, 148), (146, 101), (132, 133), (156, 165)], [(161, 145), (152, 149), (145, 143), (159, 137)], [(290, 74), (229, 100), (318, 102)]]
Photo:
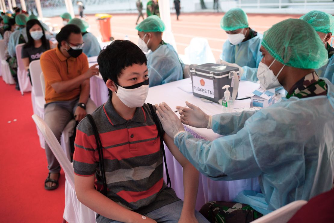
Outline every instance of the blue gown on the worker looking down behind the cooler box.
[(262, 53), (260, 52), (262, 37), (263, 35), (258, 33), (257, 36), (238, 45), (231, 44), (227, 39), (223, 45), (223, 52), (220, 55), (221, 59), (242, 67), (243, 74), (241, 75), (241, 80), (259, 81), (256, 73), (262, 59)]

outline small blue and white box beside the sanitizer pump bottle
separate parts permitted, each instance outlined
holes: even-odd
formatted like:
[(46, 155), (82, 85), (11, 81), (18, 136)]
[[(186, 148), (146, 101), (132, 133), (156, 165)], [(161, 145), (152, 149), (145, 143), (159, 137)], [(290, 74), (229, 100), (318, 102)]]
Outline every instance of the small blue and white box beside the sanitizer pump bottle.
[(275, 93), (258, 88), (252, 93), (251, 107), (266, 108), (275, 103)]

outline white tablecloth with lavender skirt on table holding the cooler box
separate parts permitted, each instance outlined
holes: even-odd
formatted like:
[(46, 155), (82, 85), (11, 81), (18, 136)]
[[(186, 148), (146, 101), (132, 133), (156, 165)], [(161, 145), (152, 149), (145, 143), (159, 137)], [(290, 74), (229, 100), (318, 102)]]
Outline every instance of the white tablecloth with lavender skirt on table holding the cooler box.
[[(239, 84), (239, 98), (244, 98), (252, 93), (259, 84), (241, 81)], [(172, 109), (176, 105), (185, 106), (185, 101), (188, 101), (200, 107), (209, 115), (219, 114), (222, 112), (221, 105), (211, 102), (203, 102), (200, 98), (193, 96), (191, 90), (191, 79), (183, 79), (168, 84), (155, 86), (150, 88), (146, 103), (156, 104), (162, 101), (166, 102)], [(248, 108), (251, 104), (250, 99), (235, 100), (234, 108)], [(191, 132), (196, 138), (214, 140), (221, 135), (214, 133), (211, 129), (199, 129), (191, 126), (185, 126), (186, 131)], [(165, 145), (167, 168), (172, 182), (172, 188), (177, 196), (181, 199), (183, 193), (183, 171), (181, 165), (176, 161), (169, 149)], [(165, 177), (166, 181), (166, 177)], [(232, 201), (239, 192), (243, 190), (254, 190), (260, 192), (260, 186), (257, 178), (237, 180), (237, 181), (213, 181), (204, 175), (200, 174), (199, 187), (196, 201), (196, 210), (208, 201)]]

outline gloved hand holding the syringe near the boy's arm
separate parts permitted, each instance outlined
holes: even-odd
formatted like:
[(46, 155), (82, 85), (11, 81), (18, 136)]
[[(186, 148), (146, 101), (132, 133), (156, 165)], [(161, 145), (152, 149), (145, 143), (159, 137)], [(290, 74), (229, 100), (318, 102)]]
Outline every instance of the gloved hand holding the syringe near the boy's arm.
[[(188, 108), (183, 108), (179, 111), (180, 120), (185, 125), (190, 125), (196, 128), (209, 128), (210, 116), (205, 114), (199, 107), (186, 101)], [(182, 108), (176, 106), (176, 109)]]

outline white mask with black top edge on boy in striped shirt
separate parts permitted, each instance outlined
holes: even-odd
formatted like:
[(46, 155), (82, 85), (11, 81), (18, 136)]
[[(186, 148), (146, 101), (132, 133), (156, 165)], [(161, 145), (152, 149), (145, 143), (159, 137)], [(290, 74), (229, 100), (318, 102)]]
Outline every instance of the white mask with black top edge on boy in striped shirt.
[[(118, 85), (117, 85), (118, 86)], [(129, 86), (118, 86), (116, 95), (129, 108), (142, 107), (148, 94), (149, 80)]]

